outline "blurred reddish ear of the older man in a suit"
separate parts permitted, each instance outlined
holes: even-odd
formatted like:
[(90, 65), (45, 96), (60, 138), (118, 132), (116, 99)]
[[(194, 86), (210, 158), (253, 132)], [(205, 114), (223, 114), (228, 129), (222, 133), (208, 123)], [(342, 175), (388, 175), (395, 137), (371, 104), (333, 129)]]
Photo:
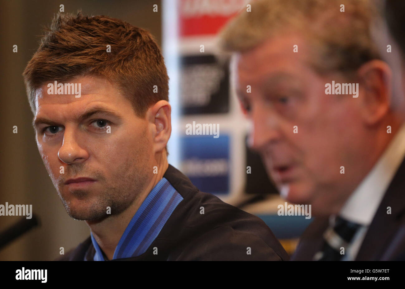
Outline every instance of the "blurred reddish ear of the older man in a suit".
[(360, 112), (367, 125), (374, 125), (386, 116), (392, 101), (392, 72), (381, 60), (364, 63), (357, 70)]

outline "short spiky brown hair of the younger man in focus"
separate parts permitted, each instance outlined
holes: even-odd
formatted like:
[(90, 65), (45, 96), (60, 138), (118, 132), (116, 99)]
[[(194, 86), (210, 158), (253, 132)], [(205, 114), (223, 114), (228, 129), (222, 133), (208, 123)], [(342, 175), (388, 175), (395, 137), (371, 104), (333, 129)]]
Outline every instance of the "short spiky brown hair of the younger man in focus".
[(23, 72), (32, 112), (36, 112), (35, 91), (43, 84), (85, 75), (117, 85), (140, 117), (153, 103), (168, 101), (166, 66), (147, 30), (104, 15), (59, 13)]

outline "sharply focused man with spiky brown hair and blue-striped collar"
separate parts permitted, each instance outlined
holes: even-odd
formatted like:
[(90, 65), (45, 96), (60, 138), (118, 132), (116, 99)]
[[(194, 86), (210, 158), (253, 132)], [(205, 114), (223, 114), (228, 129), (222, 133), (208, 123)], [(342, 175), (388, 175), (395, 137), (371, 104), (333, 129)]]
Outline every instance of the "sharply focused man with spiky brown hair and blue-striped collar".
[(58, 15), (23, 76), (45, 167), (90, 227), (62, 260), (288, 259), (262, 220), (168, 165), (168, 76), (149, 32)]

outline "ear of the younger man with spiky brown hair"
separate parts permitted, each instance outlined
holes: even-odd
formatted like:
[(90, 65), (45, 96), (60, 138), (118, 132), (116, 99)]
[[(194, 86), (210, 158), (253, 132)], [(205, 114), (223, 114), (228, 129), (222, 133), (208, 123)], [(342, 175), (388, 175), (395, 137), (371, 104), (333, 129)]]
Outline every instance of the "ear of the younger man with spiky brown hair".
[(160, 152), (166, 147), (172, 132), (171, 106), (166, 100), (160, 100), (152, 105), (146, 112), (146, 119), (152, 133), (155, 152)]

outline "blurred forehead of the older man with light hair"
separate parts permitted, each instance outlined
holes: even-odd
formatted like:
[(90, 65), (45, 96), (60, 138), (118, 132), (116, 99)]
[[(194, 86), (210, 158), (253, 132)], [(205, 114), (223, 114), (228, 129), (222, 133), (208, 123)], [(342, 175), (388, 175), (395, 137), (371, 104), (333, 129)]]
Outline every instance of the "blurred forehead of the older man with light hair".
[(303, 76), (303, 71), (310, 69), (308, 60), (311, 51), (306, 42), (296, 34), (277, 34), (254, 49), (234, 55), (239, 82), (254, 84), (270, 77)]

